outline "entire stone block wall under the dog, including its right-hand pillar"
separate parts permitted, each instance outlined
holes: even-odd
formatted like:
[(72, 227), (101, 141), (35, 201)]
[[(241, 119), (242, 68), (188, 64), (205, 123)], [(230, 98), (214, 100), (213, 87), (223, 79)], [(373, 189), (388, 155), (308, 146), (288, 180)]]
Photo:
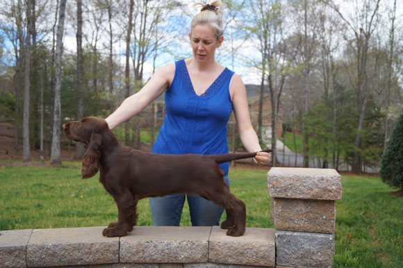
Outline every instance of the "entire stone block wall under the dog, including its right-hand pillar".
[(272, 168), (273, 228), (229, 237), (219, 226), (135, 226), (3, 231), (0, 267), (330, 267), (340, 175), (333, 169)]

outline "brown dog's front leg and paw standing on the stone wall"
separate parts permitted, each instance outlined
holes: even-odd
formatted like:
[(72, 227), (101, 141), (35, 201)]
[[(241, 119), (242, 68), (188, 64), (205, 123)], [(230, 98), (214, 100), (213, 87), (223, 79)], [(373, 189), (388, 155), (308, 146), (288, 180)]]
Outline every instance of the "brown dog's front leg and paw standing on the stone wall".
[(117, 205), (117, 222), (110, 223), (102, 234), (106, 237), (125, 236), (127, 232), (133, 230), (135, 219), (137, 217), (137, 201), (133, 200), (133, 195), (126, 192), (120, 195), (113, 195)]

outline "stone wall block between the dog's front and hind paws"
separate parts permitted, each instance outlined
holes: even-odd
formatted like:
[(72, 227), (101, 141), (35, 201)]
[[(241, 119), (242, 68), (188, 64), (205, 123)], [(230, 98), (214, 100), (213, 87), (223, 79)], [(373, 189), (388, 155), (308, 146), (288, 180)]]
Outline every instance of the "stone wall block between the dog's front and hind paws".
[(207, 262), (211, 227), (135, 226), (120, 239), (120, 262)]

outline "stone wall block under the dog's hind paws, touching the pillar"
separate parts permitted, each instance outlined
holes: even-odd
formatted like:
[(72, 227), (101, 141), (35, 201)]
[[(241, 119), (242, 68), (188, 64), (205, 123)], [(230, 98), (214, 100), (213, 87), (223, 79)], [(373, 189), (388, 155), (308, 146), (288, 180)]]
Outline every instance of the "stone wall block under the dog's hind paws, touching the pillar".
[(226, 233), (220, 226), (213, 226), (208, 246), (209, 262), (274, 267), (274, 229), (247, 228), (241, 237)]

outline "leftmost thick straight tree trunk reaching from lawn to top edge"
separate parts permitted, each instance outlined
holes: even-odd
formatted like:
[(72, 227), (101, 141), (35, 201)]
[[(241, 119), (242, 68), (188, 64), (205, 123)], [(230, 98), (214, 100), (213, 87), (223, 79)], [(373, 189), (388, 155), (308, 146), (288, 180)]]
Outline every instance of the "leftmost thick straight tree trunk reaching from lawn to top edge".
[(31, 99), (31, 8), (32, 0), (26, 6), (26, 42), (25, 42), (25, 68), (24, 68), (24, 113), (22, 120), (22, 161), (31, 161), (29, 145), (29, 101)]

